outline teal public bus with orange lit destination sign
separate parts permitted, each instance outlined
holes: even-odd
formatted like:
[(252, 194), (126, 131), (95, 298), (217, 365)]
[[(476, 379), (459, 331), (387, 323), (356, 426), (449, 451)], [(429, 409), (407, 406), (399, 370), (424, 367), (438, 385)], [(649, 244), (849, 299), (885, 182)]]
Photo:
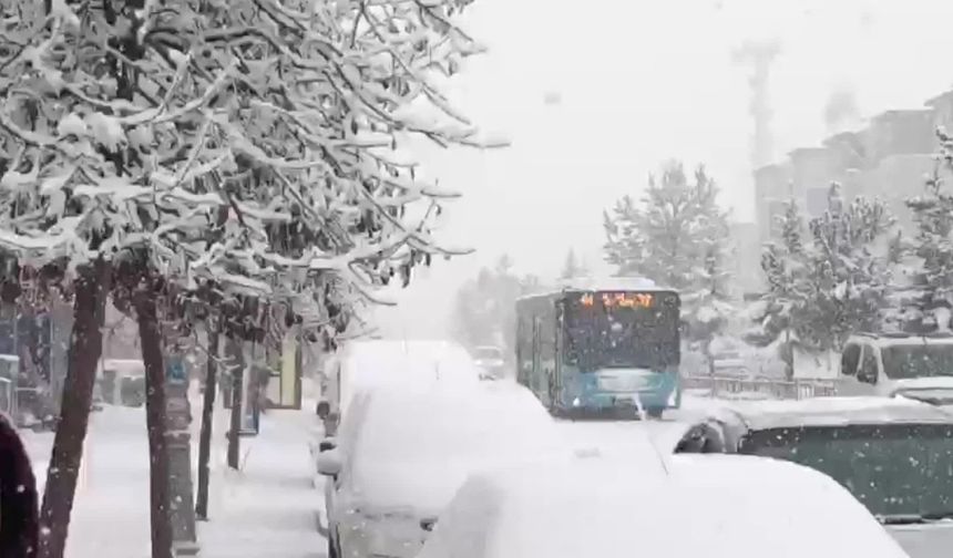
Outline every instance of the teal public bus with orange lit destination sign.
[(522, 297), (518, 381), (557, 416), (659, 417), (682, 404), (680, 304), (675, 290), (634, 278)]

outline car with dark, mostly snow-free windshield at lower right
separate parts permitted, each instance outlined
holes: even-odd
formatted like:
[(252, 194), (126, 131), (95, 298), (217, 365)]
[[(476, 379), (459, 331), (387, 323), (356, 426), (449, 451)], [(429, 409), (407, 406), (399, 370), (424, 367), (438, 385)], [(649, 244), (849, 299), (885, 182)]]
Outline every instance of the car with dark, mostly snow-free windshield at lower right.
[(953, 548), (953, 414), (940, 407), (891, 397), (735, 404), (690, 427), (676, 452), (814, 468), (863, 503), (912, 558)]

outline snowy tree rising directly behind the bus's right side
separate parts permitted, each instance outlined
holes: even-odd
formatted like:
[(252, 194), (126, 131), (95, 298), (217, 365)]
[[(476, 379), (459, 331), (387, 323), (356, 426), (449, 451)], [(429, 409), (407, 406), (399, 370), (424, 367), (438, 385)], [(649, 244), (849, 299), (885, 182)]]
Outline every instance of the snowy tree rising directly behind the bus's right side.
[[(727, 294), (728, 213), (718, 206), (718, 186), (698, 167), (689, 182), (680, 163), (648, 179), (642, 200), (619, 199), (604, 213), (606, 261), (619, 276), (638, 276), (682, 292), (687, 337), (706, 355), (734, 308)], [(710, 364), (710, 358), (709, 364)]]

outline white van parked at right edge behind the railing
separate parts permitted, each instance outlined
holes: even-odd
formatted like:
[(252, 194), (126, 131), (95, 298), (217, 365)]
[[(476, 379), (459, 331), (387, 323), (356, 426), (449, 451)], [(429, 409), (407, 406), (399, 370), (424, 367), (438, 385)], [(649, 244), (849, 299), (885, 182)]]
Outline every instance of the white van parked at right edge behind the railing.
[(953, 333), (852, 335), (841, 353), (838, 394), (953, 397)]

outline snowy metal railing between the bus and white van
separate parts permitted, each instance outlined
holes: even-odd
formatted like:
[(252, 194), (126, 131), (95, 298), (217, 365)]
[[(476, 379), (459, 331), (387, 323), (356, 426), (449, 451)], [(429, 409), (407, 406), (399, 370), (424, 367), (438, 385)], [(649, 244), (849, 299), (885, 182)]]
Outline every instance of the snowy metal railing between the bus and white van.
[(718, 399), (802, 400), (837, 395), (837, 385), (831, 380), (693, 375), (683, 378), (682, 385), (686, 390), (704, 390), (705, 395)]

